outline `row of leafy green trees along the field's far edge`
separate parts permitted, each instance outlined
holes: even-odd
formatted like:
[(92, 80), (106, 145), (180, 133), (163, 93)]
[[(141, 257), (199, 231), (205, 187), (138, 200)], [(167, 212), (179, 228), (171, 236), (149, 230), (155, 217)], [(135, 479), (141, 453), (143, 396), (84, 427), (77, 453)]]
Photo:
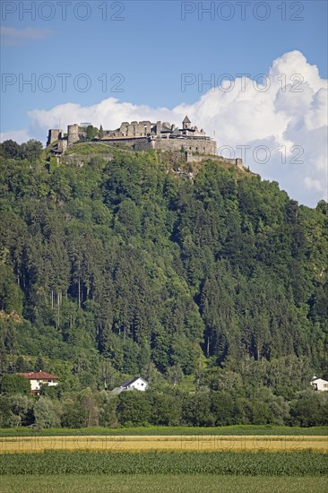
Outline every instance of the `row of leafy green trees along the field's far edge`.
[(8, 380), (4, 377), (0, 383), (0, 428), (328, 425), (328, 395), (311, 390), (296, 393), (289, 402), (265, 387), (253, 392), (241, 388), (187, 392), (171, 387), (114, 395), (90, 387), (65, 393), (59, 386), (44, 387), (32, 397), (23, 385), (21, 394), (10, 394), (13, 381)]

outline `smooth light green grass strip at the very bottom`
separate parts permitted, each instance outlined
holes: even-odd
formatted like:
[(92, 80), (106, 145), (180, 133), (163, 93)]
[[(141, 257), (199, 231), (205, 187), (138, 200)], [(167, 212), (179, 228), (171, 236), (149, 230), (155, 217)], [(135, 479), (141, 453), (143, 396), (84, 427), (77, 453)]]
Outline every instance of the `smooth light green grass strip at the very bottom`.
[(209, 476), (205, 474), (119, 474), (3, 476), (1, 493), (325, 493), (327, 478)]

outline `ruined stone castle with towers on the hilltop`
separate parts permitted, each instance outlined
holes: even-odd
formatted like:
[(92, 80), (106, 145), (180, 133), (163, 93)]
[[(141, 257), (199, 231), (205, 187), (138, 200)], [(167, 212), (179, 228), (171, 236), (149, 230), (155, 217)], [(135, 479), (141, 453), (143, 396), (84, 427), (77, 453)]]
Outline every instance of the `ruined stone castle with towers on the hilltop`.
[[(67, 134), (61, 129), (50, 129), (47, 146), (52, 146), (54, 154), (62, 154), (73, 143), (86, 139), (88, 125), (91, 124), (68, 125)], [(199, 160), (202, 155), (215, 155), (217, 151), (216, 142), (203, 129), (192, 126), (188, 117), (184, 118), (181, 128), (160, 121), (123, 122), (117, 130), (105, 130), (95, 140), (99, 143), (125, 143), (134, 151), (184, 151), (188, 161)]]

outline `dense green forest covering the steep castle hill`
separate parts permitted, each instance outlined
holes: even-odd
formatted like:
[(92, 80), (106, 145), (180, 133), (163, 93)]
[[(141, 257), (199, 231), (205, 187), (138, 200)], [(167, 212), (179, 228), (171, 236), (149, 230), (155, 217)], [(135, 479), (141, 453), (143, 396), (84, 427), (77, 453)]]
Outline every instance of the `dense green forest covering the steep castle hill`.
[[(326, 422), (327, 203), (216, 158), (0, 153), (0, 426)], [(39, 369), (60, 384), (36, 399), (12, 377)]]

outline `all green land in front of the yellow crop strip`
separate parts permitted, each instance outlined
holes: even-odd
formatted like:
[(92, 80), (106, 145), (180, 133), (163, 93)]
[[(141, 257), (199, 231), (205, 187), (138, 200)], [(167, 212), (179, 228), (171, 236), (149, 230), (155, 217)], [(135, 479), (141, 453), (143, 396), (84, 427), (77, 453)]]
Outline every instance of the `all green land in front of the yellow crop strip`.
[(0, 454), (1, 493), (324, 493), (328, 454), (41, 452)]

